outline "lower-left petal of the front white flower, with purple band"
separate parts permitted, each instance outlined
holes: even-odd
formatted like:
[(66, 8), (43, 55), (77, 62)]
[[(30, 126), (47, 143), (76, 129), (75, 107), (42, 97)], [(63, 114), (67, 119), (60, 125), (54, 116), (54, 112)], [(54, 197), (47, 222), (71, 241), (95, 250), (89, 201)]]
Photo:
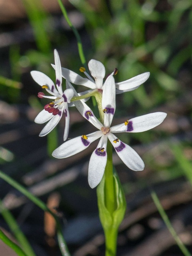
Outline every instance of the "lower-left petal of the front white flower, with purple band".
[(84, 140), (82, 136), (78, 136), (74, 139), (64, 142), (61, 146), (53, 151), (52, 156), (54, 156), (55, 158), (67, 158), (69, 156), (73, 156), (86, 149), (90, 145), (90, 143), (100, 138), (101, 136), (101, 134), (98, 132), (93, 132), (92, 134), (88, 134), (87, 136), (89, 135), (92, 136), (87, 140)]

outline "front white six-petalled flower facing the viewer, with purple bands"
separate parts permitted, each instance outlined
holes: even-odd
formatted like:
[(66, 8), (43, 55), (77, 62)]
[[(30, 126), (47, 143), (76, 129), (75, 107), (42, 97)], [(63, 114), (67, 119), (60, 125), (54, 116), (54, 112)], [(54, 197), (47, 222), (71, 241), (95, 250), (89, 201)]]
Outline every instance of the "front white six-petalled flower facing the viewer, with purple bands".
[(92, 110), (84, 102), (79, 101), (78, 108), (80, 109), (80, 113), (98, 128), (98, 131), (68, 140), (54, 150), (52, 153), (54, 157), (67, 158), (73, 156), (88, 148), (90, 143), (100, 138), (96, 150), (91, 155), (88, 167), (88, 182), (91, 188), (96, 187), (100, 183), (104, 174), (107, 162), (106, 147), (108, 139), (126, 166), (135, 171), (144, 169), (144, 162), (135, 150), (123, 143), (114, 134), (118, 132), (143, 132), (152, 129), (162, 123), (166, 117), (166, 113), (151, 113), (126, 120), (123, 124), (110, 127), (116, 108), (115, 82), (112, 75), (108, 76), (103, 88), (102, 108), (104, 112), (104, 124), (94, 116)]

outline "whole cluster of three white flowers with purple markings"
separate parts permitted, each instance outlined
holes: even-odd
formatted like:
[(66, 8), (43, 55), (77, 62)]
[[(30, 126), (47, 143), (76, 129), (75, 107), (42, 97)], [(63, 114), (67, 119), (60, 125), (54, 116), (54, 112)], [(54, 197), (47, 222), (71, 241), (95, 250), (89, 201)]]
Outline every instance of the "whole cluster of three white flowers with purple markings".
[[(48, 121), (46, 126), (40, 132), (40, 136), (45, 136), (53, 130), (64, 113), (66, 117), (64, 140), (66, 140), (69, 130), (68, 106), (72, 105), (76, 106), (80, 114), (94, 125), (98, 131), (90, 134), (83, 134), (82, 136), (64, 142), (54, 150), (52, 155), (55, 158), (67, 158), (73, 156), (88, 148), (90, 143), (100, 138), (98, 146), (90, 157), (88, 167), (88, 182), (91, 188), (96, 187), (103, 177), (107, 162), (106, 148), (108, 140), (112, 143), (118, 156), (126, 166), (135, 171), (143, 170), (144, 162), (140, 156), (130, 146), (122, 142), (116, 134), (121, 132), (144, 132), (150, 130), (163, 122), (166, 113), (155, 112), (125, 120), (124, 123), (116, 126), (111, 126), (111, 124), (116, 110), (116, 94), (135, 90), (148, 79), (150, 73), (145, 72), (134, 78), (116, 83), (114, 75), (116, 74), (117, 69), (115, 69), (103, 83), (105, 68), (104, 65), (97, 60), (90, 60), (88, 63), (88, 68), (92, 77), (84, 68), (80, 68), (80, 71), (84, 72), (87, 76), (87, 78), (83, 78), (71, 70), (61, 68), (60, 59), (56, 50), (54, 51), (54, 59), (55, 65), (52, 66), (56, 73), (56, 85), (54, 85), (52, 80), (42, 72), (31, 72), (34, 80), (51, 95), (46, 96), (43, 92), (39, 92), (38, 97), (52, 99), (52, 102), (46, 104), (44, 110), (42, 110), (35, 118), (35, 122), (39, 124)], [(66, 80), (66, 90), (64, 91), (62, 90), (62, 77)], [(71, 83), (86, 86), (90, 90), (78, 94)], [(101, 101), (98, 102), (98, 105), (100, 105), (98, 108), (102, 109), (102, 113), (100, 113), (101, 121), (96, 118), (90, 107), (84, 100), (82, 100), (83, 98), (88, 99), (89, 96), (96, 96), (96, 94), (99, 94), (101, 97)]]

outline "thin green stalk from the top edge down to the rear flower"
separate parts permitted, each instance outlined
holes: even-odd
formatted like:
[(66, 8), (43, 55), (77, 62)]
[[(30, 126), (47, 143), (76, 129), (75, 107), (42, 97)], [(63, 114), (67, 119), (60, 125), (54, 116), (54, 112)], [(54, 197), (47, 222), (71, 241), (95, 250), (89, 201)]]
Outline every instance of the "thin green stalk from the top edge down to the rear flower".
[(76, 36), (80, 60), (81, 60), (82, 64), (84, 66), (86, 66), (86, 69), (88, 70), (87, 65), (86, 65), (86, 59), (85, 59), (84, 52), (83, 52), (83, 46), (82, 46), (80, 35), (79, 35), (78, 31), (76, 30), (76, 28), (71, 23), (71, 21), (70, 21), (70, 19), (68, 17), (67, 11), (66, 11), (63, 3), (62, 3), (62, 0), (58, 0), (58, 4), (59, 4), (59, 6), (61, 8), (61, 11), (63, 13), (64, 18), (66, 19), (66, 22), (68, 23), (68, 25), (70, 26), (70, 28), (72, 29), (72, 31), (74, 32), (74, 34)]

